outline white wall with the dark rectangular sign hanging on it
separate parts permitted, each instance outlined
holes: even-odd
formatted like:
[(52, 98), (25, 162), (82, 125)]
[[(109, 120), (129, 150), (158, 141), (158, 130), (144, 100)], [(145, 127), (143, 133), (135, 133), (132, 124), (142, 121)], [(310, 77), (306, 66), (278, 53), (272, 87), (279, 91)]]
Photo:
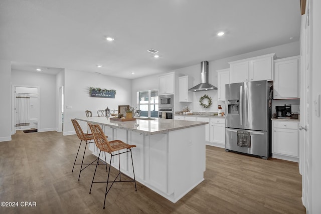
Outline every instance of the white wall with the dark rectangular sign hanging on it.
[[(90, 97), (89, 88), (100, 87), (115, 89), (115, 99)], [(81, 72), (65, 69), (65, 111), (64, 111), (64, 135), (75, 134), (70, 121), (72, 118), (85, 117), (85, 111), (92, 111), (97, 116), (97, 110), (117, 109), (118, 105), (131, 104), (131, 80), (100, 75), (96, 73)], [(72, 108), (66, 108), (72, 106)], [(80, 123), (84, 130), (87, 125)]]

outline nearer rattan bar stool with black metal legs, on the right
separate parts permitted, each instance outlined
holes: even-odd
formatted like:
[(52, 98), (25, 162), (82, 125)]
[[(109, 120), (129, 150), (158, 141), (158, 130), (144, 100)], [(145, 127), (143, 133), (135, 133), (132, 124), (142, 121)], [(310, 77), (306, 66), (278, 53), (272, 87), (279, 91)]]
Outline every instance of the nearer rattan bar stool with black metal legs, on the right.
[[(122, 142), (121, 140), (108, 141), (107, 137), (105, 136), (104, 132), (102, 131), (101, 127), (98, 124), (93, 125), (93, 124), (88, 123), (88, 125), (90, 127), (91, 133), (94, 136), (94, 140), (95, 140), (96, 146), (100, 149), (100, 152), (105, 152), (105, 157), (106, 157), (106, 152), (111, 155), (110, 162), (109, 162), (109, 170), (108, 170), (107, 181), (100, 181), (100, 182), (96, 181), (96, 182), (94, 182), (94, 178), (95, 178), (95, 174), (96, 174), (96, 170), (97, 170), (97, 165), (98, 165), (98, 161), (97, 161), (96, 169), (95, 169), (94, 176), (92, 178), (92, 182), (91, 182), (91, 186), (90, 186), (90, 190), (89, 190), (89, 194), (90, 194), (93, 183), (106, 183), (106, 191), (105, 191), (105, 199), (104, 199), (104, 207), (103, 207), (103, 208), (105, 208), (106, 196), (107, 196), (110, 188), (114, 184), (114, 182), (134, 182), (135, 183), (135, 191), (137, 191), (134, 164), (132, 162), (132, 154), (131, 154), (131, 148), (132, 147), (136, 147), (136, 146), (135, 145), (129, 145), (127, 143)], [(127, 150), (119, 152), (119, 150), (122, 150), (122, 149), (127, 149)], [(112, 152), (114, 152), (114, 151), (118, 151), (118, 154), (112, 154)], [(100, 155), (100, 152), (99, 152), (99, 155)], [(118, 155), (118, 160), (120, 160), (119, 159), (119, 155), (123, 154), (123, 153), (127, 153), (127, 152), (130, 152), (132, 171), (133, 171), (134, 179), (133, 180), (121, 180), (121, 178), (120, 178), (120, 161), (118, 161), (119, 162), (119, 172), (118, 172), (117, 176), (115, 177), (115, 179), (113, 181), (109, 181), (109, 173), (110, 173), (110, 165), (111, 165), (112, 157)], [(116, 181), (118, 176), (119, 176), (119, 181), (118, 180)], [(111, 183), (109, 188), (108, 188), (108, 183)]]

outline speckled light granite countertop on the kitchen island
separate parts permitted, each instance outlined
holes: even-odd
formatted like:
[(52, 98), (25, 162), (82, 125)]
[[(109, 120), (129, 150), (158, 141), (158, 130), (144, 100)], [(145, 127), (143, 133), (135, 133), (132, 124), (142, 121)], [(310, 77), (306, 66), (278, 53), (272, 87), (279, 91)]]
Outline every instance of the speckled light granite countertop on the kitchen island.
[(145, 134), (167, 133), (169, 131), (190, 128), (194, 126), (206, 125), (208, 122), (171, 120), (171, 119), (151, 119), (137, 118), (133, 121), (110, 121), (109, 117), (79, 117), (76, 120), (105, 125), (112, 128), (126, 129)]

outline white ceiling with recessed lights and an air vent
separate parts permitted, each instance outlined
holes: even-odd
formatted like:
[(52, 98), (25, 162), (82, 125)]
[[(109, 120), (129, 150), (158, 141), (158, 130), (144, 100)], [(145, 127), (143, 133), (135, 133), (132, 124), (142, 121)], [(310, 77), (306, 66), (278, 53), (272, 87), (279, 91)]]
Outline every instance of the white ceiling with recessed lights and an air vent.
[(0, 59), (133, 79), (298, 41), (300, 17), (299, 0), (1, 0)]

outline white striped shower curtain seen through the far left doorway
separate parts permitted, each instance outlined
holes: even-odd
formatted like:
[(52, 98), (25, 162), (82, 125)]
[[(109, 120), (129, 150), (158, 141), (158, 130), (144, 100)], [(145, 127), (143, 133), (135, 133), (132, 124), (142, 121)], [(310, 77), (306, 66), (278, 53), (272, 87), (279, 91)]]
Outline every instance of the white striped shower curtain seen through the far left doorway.
[(16, 94), (16, 129), (24, 129), (30, 125), (30, 95)]

